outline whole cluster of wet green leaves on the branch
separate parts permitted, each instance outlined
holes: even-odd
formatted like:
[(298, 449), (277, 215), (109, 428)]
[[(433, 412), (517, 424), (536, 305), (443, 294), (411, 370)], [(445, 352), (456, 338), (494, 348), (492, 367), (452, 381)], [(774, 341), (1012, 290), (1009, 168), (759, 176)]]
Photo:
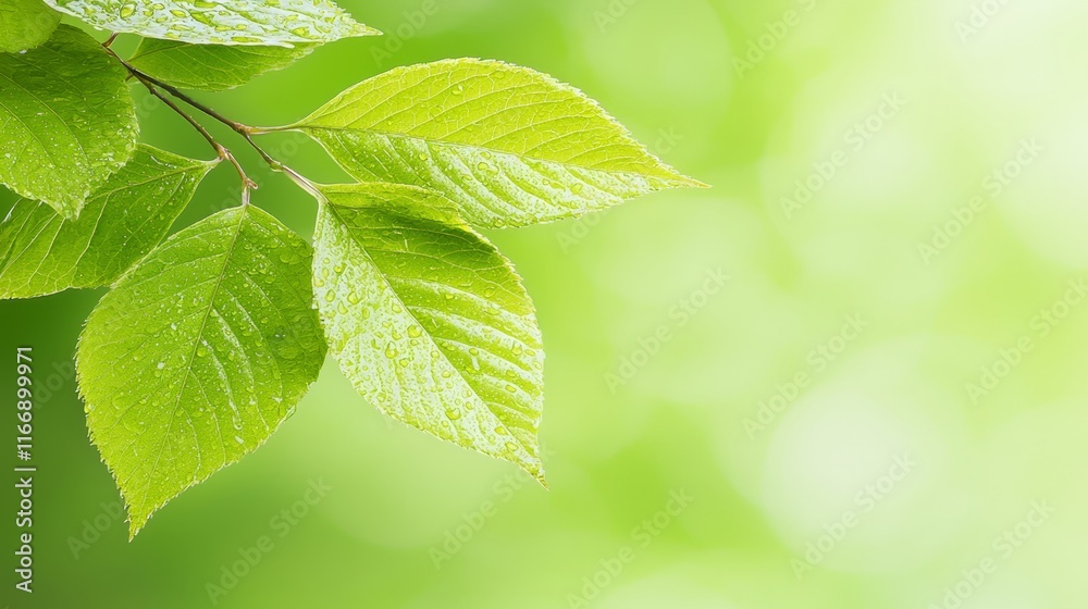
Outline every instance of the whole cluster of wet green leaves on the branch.
[[(36, 2), (0, 0), (4, 49), (53, 30), (55, 13)], [(576, 217), (701, 183), (577, 89), (497, 61), (396, 69), (286, 127), (245, 125), (183, 92), (238, 87), (322, 42), (376, 34), (329, 0), (47, 2), (147, 37), (125, 60), (113, 38), (61, 25), (40, 47), (0, 53), (0, 183), (23, 197), (0, 224), (0, 298), (110, 285), (76, 366), (132, 535), (262, 445), (329, 348), (388, 415), (544, 484), (541, 331), (512, 264), (473, 226)], [(137, 147), (127, 82), (227, 163)], [(317, 199), (313, 249), (250, 203), (256, 184), (201, 117)], [(359, 183), (313, 184), (256, 140), (286, 129)], [(218, 164), (240, 176), (238, 207), (163, 240)]]

